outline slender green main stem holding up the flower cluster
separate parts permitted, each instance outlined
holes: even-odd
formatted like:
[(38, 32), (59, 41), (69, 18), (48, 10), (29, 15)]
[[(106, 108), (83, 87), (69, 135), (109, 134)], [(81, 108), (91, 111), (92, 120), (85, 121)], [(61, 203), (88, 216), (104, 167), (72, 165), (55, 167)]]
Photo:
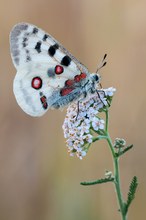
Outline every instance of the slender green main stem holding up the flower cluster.
[(108, 133), (108, 121), (109, 121), (108, 110), (105, 111), (105, 114), (106, 114), (105, 132), (106, 132), (106, 136), (107, 136), (106, 140), (109, 144), (109, 147), (110, 147), (110, 150), (112, 153), (112, 157), (113, 157), (113, 164), (114, 164), (114, 177), (115, 177), (114, 185), (115, 185), (117, 199), (118, 199), (118, 203), (119, 203), (119, 207), (120, 207), (121, 219), (126, 220), (127, 218), (126, 218), (126, 213), (125, 213), (125, 203), (123, 200), (123, 196), (122, 196), (122, 192), (121, 192), (121, 184), (120, 184), (119, 158), (115, 154), (113, 143), (112, 143), (112, 140), (111, 140), (110, 135)]

